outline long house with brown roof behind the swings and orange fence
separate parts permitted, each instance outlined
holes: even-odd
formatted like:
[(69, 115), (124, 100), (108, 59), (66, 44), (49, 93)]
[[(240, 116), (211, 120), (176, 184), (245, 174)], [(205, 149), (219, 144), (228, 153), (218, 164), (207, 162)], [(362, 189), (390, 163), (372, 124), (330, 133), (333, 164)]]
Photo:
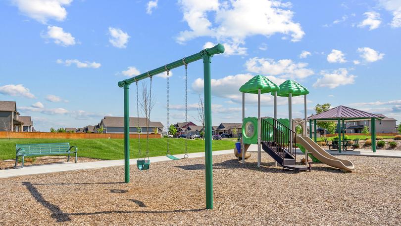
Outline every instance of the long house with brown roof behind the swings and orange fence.
[[(130, 117), (130, 134), (138, 134), (138, 125), (140, 127), (140, 132), (142, 131), (142, 133), (146, 133), (146, 122), (147, 119), (144, 117)], [(103, 126), (103, 133), (124, 133), (124, 117), (105, 116), (101, 119), (99, 126)], [(152, 122), (148, 120), (148, 127), (149, 133), (154, 133), (154, 130), (157, 129), (157, 133), (161, 134), (164, 126), (161, 122)]]

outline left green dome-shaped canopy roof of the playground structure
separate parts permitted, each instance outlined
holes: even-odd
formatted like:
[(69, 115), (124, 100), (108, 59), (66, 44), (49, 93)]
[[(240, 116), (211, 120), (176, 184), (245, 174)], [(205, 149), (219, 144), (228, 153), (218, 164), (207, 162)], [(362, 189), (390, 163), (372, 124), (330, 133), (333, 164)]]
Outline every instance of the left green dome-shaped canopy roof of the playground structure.
[(280, 87), (276, 83), (270, 81), (267, 77), (256, 75), (241, 86), (240, 92), (258, 94), (259, 89), (260, 93), (270, 93), (279, 90)]

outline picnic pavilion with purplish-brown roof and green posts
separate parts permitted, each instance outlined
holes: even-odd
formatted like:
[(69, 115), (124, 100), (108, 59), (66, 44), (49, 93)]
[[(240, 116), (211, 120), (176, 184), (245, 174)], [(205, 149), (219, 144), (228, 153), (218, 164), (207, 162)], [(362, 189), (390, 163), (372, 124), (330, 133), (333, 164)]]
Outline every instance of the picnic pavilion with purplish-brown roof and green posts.
[(318, 113), (312, 116), (309, 116), (309, 137), (312, 138), (312, 120), (313, 120), (313, 128), (314, 128), (314, 141), (317, 141), (316, 134), (316, 121), (337, 121), (337, 131), (338, 131), (338, 139), (339, 139), (339, 151), (341, 152), (341, 134), (343, 134), (343, 140), (345, 138), (345, 121), (352, 120), (371, 120), (371, 139), (372, 139), (372, 151), (376, 152), (376, 120), (382, 120), (384, 117), (378, 114), (367, 113), (364, 111), (356, 110), (353, 108), (349, 108), (346, 106), (338, 106), (327, 110), (322, 113)]

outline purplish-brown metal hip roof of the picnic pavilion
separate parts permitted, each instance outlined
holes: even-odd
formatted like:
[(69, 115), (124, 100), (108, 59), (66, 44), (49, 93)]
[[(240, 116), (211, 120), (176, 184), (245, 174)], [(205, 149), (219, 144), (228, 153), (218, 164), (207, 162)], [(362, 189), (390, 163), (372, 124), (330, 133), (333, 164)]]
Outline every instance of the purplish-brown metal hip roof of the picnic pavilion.
[(344, 119), (369, 119), (369, 118), (376, 118), (382, 119), (383, 116), (373, 113), (367, 113), (364, 111), (356, 110), (353, 108), (349, 108), (346, 106), (337, 106), (330, 110), (327, 110), (322, 113), (318, 113), (312, 116), (309, 116), (308, 119), (316, 119), (316, 120), (335, 120), (338, 118)]

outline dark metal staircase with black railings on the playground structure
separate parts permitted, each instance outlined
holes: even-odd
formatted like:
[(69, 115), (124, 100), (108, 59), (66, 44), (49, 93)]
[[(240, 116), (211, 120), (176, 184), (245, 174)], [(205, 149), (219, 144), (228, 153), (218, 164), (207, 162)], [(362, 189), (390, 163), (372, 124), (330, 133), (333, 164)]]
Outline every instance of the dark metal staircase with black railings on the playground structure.
[(296, 133), (273, 119), (273, 124), (266, 119), (261, 119), (261, 144), (262, 149), (277, 161), (283, 169), (309, 170), (308, 166), (296, 164)]

